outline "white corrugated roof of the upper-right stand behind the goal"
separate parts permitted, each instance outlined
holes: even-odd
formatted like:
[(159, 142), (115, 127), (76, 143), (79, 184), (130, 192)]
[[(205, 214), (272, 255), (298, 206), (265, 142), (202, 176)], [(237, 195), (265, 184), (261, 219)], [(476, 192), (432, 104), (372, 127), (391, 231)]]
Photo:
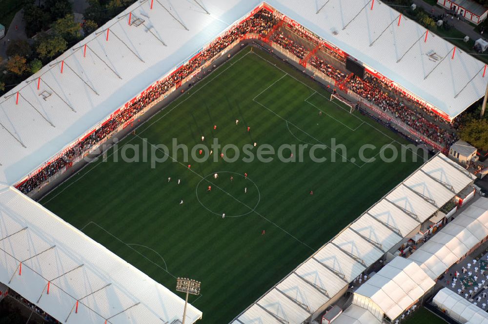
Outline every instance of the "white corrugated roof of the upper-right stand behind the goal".
[(485, 94), (485, 63), (381, 1), (266, 2), (451, 118)]

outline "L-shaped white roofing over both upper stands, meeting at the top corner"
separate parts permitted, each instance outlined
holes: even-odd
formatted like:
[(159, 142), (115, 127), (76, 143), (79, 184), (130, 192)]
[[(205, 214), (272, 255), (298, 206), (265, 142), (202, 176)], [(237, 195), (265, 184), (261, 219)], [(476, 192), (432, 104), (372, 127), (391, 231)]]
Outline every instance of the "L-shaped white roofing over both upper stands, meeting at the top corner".
[[(424, 43), (424, 27), (405, 17), (390, 24), (398, 12), (379, 0), (370, 10), (370, 1), (267, 2), (450, 117), (482, 97), (482, 62), (459, 49), (451, 60), (452, 44), (432, 33)], [(150, 2), (137, 1), (1, 98), (0, 182), (22, 180), (262, 3), (160, 0), (151, 10)], [(129, 26), (129, 12), (144, 23)]]

